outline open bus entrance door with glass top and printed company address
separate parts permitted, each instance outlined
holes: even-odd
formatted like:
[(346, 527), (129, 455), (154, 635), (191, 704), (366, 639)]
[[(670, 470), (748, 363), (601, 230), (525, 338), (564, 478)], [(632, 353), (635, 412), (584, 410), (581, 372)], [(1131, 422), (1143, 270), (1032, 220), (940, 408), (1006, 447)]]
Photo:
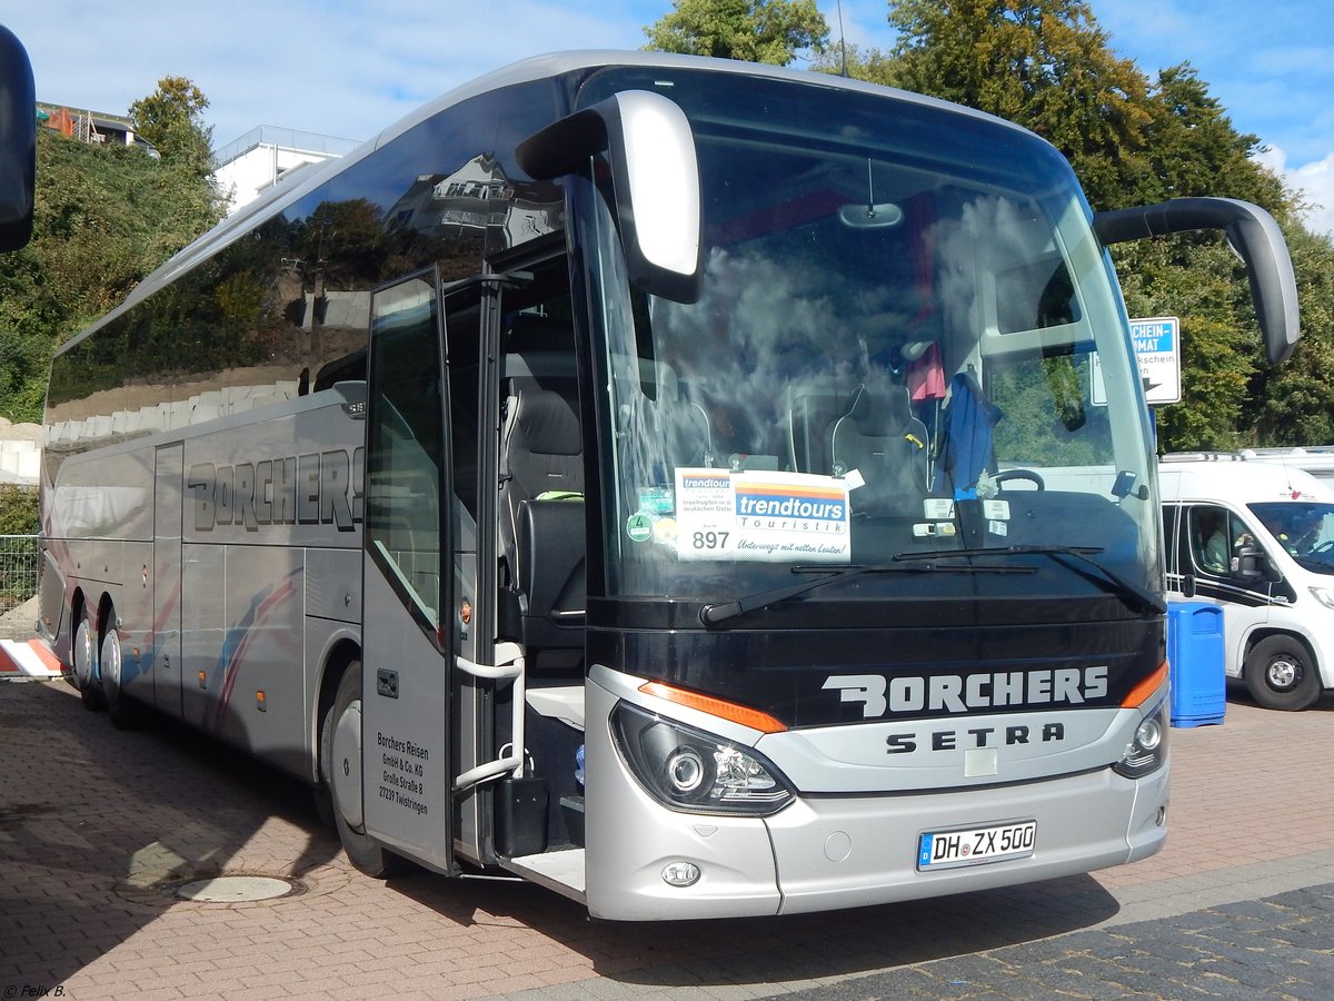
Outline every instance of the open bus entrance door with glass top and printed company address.
[[(443, 622), (454, 530), (443, 502), (451, 472), (438, 288), (430, 270), (372, 299), (360, 726), (340, 714), (332, 782), (354, 833), (362, 823), (376, 842), (450, 873), (452, 638)], [(354, 777), (343, 762), (358, 758)]]

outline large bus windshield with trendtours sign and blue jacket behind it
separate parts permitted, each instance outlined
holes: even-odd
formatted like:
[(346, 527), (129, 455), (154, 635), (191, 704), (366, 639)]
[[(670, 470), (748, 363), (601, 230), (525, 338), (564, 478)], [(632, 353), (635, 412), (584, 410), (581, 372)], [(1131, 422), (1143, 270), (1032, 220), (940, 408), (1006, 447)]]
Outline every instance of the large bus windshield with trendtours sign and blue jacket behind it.
[[(595, 200), (612, 594), (1062, 547), (1159, 587), (1125, 311), (1055, 149), (920, 100), (742, 75), (612, 69), (580, 103), (631, 88), (691, 121), (704, 247), (696, 302), (634, 290)], [(1013, 586), (986, 579), (966, 587)]]

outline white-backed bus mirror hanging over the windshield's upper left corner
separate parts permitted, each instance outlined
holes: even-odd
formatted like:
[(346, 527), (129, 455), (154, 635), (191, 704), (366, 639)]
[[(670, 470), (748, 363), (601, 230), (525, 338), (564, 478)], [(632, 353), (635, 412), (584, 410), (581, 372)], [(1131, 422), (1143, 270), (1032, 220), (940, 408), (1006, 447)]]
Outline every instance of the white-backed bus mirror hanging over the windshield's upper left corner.
[(700, 195), (686, 113), (660, 93), (622, 91), (522, 141), (519, 165), (535, 180), (611, 157), (616, 216), (630, 280), (680, 303), (699, 299)]

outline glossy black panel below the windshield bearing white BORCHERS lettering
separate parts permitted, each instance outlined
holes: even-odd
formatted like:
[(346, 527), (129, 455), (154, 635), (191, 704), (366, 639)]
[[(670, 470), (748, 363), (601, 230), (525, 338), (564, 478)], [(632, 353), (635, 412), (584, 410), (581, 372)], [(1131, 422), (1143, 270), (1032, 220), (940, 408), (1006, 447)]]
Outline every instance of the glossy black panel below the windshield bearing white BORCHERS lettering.
[(1049, 606), (1059, 614), (1046, 622), (1023, 622), (1018, 602), (1009, 622), (991, 603), (971, 623), (959, 603), (936, 606), (939, 617), (924, 603), (910, 615), (868, 603), (856, 623), (847, 606), (826, 606), (826, 627), (811, 622), (822, 613), (810, 605), (807, 627), (794, 629), (788, 613), (786, 623), (771, 615), (763, 627), (714, 631), (695, 627), (686, 605), (675, 627), (635, 629), (635, 609), (591, 603), (591, 617), (622, 625), (590, 629), (590, 661), (794, 727), (1118, 706), (1163, 661), (1162, 618), (1101, 618), (1098, 601)]

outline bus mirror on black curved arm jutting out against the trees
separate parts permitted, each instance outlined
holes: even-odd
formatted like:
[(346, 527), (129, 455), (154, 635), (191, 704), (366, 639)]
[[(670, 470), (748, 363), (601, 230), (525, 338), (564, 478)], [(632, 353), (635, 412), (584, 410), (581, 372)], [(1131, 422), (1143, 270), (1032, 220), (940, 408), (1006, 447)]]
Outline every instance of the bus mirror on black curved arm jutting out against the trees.
[(1301, 323), (1293, 259), (1274, 216), (1259, 206), (1230, 198), (1174, 198), (1157, 206), (1097, 212), (1093, 226), (1105, 244), (1189, 230), (1222, 230), (1246, 264), (1270, 364), (1286, 362), (1297, 348)]

